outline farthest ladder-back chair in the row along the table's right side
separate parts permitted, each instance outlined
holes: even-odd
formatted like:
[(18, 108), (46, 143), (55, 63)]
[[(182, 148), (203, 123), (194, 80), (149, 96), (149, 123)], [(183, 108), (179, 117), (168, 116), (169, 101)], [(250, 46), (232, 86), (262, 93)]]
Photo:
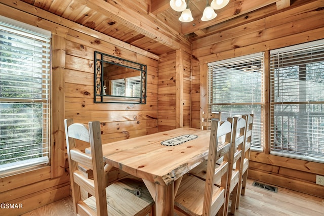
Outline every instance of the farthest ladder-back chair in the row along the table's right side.
[(246, 120), (246, 139), (242, 148), (242, 158), (241, 158), (241, 167), (240, 167), (241, 170), (240, 170), (240, 178), (238, 181), (238, 195), (236, 198), (236, 209), (239, 206), (240, 195), (245, 194), (245, 189), (247, 185), (254, 115), (250, 114), (242, 117)]

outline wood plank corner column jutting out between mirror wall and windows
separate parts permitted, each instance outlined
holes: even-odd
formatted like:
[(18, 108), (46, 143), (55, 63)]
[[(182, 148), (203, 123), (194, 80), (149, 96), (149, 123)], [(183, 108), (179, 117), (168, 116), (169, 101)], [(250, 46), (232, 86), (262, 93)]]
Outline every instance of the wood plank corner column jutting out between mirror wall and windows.
[(191, 125), (191, 55), (177, 50), (160, 56), (158, 131)]

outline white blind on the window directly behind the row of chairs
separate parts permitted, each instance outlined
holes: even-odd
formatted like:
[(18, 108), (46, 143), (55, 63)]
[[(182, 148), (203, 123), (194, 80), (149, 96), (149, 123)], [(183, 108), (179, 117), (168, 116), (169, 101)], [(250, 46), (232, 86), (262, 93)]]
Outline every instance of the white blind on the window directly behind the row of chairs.
[(222, 112), (222, 120), (254, 114), (251, 146), (263, 148), (263, 53), (208, 64), (209, 112)]

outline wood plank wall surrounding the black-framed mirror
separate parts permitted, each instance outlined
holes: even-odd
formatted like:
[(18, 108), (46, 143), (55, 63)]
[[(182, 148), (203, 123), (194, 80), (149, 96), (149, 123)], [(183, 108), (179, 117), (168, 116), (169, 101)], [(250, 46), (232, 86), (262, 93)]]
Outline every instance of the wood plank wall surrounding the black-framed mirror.
[[(65, 118), (84, 123), (99, 120), (103, 143), (156, 133), (158, 62), (107, 42), (99, 44), (96, 38), (84, 37), (68, 35), (66, 40)], [(94, 51), (146, 64), (147, 103), (94, 104)]]

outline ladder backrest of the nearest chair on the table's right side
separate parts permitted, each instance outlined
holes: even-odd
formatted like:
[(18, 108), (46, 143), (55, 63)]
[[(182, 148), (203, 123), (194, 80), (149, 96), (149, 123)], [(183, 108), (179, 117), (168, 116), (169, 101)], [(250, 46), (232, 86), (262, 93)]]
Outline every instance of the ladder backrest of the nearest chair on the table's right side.
[[(223, 143), (218, 143), (219, 138), (222, 136), (225, 136), (225, 141)], [(216, 215), (216, 213), (220, 209), (220, 206), (222, 206), (222, 203), (225, 202), (231, 137), (232, 124), (229, 121), (212, 121), (207, 162), (203, 215)], [(223, 157), (221, 164), (216, 165), (216, 161), (218, 161), (221, 157)], [(223, 189), (224, 202), (213, 203), (213, 186), (214, 184), (219, 182), (219, 187)]]

